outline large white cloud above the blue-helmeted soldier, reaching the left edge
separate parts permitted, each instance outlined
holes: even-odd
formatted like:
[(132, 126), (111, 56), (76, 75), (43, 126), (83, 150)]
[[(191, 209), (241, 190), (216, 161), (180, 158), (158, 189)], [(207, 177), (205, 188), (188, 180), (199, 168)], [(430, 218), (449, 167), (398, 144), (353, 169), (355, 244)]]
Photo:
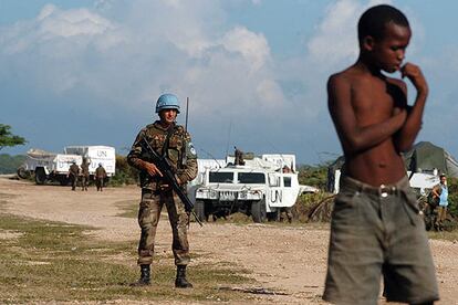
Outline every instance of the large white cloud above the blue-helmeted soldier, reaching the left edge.
[[(143, 112), (164, 91), (194, 97), (206, 115), (237, 113), (235, 103), (246, 109), (284, 106), (267, 39), (244, 27), (228, 28), (220, 6), (210, 0), (97, 1), (94, 10), (48, 4), (35, 19), (2, 29), (0, 62), (21, 71), (33, 90), (59, 96), (77, 91), (92, 99), (81, 103), (92, 107)], [(107, 17), (113, 10), (116, 19)], [(29, 65), (19, 67), (25, 59)], [(263, 115), (274, 114), (267, 108)]]

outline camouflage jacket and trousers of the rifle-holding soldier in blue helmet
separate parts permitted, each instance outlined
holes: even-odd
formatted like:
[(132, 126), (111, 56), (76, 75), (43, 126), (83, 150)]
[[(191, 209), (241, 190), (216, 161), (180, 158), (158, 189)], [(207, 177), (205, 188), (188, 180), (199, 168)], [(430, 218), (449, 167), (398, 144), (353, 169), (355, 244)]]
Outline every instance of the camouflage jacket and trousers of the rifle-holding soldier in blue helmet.
[(178, 196), (169, 187), (165, 186), (167, 182), (164, 182), (159, 176), (148, 176), (139, 166), (142, 159), (148, 161), (147, 157), (143, 156), (144, 151), (142, 151), (142, 147), (138, 144), (142, 138), (146, 138), (158, 155), (165, 154), (167, 156), (176, 176), (184, 183), (184, 188), (186, 182), (196, 178), (197, 155), (189, 134), (179, 125), (174, 124), (170, 128), (174, 129), (170, 134), (167, 149), (165, 149), (165, 143), (168, 132), (157, 120), (139, 132), (131, 152), (127, 155), (128, 164), (140, 170), (142, 202), (139, 203), (138, 224), (142, 229), (142, 235), (138, 243), (137, 261), (139, 265), (149, 265), (153, 262), (154, 240), (164, 204), (167, 207), (173, 230), (171, 248), (175, 264), (177, 266), (186, 266), (190, 261), (187, 238), (189, 214), (185, 211), (185, 206)]

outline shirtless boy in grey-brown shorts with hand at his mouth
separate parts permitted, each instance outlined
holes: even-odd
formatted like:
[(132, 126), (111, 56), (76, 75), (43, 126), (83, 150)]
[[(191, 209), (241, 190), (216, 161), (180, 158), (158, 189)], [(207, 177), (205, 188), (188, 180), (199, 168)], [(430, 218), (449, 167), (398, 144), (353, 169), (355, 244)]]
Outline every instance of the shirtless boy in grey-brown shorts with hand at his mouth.
[[(382, 275), (387, 301), (438, 299), (428, 240), (400, 156), (421, 127), (428, 95), (420, 69), (402, 65), (410, 35), (397, 9), (368, 9), (358, 22), (358, 60), (327, 83), (329, 109), (345, 155), (323, 295), (332, 303), (377, 304)], [(400, 72), (412, 82), (413, 106), (406, 84), (382, 71)]]

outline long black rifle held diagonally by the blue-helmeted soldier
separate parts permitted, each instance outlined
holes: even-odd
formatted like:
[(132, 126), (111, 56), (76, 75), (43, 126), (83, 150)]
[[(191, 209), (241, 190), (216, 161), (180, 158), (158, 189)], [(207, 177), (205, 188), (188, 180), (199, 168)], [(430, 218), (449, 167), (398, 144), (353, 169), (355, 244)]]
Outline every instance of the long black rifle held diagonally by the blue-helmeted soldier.
[(187, 212), (191, 212), (196, 221), (202, 227), (202, 222), (197, 217), (196, 212), (194, 211), (194, 204), (187, 197), (187, 194), (183, 191), (181, 187), (178, 185), (177, 179), (175, 177), (174, 170), (170, 166), (170, 162), (167, 160), (167, 158), (159, 156), (153, 147), (149, 145), (149, 143), (146, 140), (146, 138), (142, 138), (142, 140), (138, 143), (142, 146), (142, 149), (144, 149), (148, 154), (148, 158), (150, 161), (154, 162), (154, 165), (160, 170), (163, 173), (163, 178), (169, 183), (171, 189), (178, 194), (181, 202), (185, 204), (185, 210)]

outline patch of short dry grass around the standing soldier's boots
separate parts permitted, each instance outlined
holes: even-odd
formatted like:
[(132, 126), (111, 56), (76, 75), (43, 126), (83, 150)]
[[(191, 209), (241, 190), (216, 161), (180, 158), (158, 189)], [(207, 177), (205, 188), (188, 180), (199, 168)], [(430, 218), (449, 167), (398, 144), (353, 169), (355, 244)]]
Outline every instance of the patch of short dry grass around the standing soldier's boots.
[[(174, 288), (175, 266), (158, 254), (150, 287), (131, 287), (138, 278), (136, 242), (101, 242), (90, 227), (38, 221), (0, 213), (0, 303), (248, 299), (219, 285), (252, 284), (246, 270), (225, 264), (191, 264), (192, 290)], [(196, 256), (196, 255), (192, 255)]]

